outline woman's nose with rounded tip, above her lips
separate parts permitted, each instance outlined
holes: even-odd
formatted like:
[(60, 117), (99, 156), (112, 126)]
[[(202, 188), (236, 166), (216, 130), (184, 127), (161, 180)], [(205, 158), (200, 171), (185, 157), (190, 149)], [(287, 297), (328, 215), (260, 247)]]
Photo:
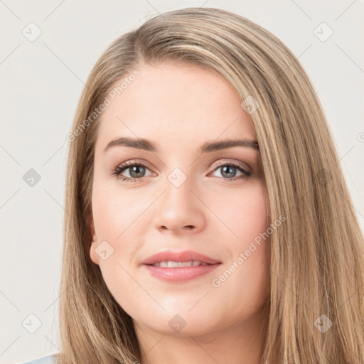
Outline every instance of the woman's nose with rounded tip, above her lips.
[(196, 233), (205, 226), (205, 205), (202, 196), (189, 178), (180, 186), (166, 180), (164, 193), (156, 201), (156, 229), (175, 235)]

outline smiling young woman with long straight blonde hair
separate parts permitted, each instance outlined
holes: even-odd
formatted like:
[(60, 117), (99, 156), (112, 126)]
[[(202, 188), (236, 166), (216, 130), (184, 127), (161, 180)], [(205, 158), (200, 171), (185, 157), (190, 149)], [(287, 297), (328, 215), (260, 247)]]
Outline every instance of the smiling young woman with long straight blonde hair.
[(46, 360), (363, 363), (363, 235), (309, 77), (271, 33), (220, 9), (146, 21), (97, 61), (68, 141)]

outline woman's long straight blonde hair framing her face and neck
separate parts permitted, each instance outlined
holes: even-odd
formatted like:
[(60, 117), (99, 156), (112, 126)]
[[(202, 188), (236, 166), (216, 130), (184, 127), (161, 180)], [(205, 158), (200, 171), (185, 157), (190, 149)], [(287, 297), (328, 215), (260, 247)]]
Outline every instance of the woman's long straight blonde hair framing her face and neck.
[[(262, 363), (363, 363), (363, 235), (318, 97), (294, 54), (272, 33), (212, 8), (151, 18), (114, 41), (90, 73), (68, 138), (59, 362), (142, 363), (132, 318), (89, 255), (99, 119), (90, 115), (114, 82), (146, 62), (163, 61), (214, 70), (242, 100), (259, 105), (250, 116), (269, 217), (287, 218), (271, 236)], [(323, 326), (331, 327), (323, 332)]]

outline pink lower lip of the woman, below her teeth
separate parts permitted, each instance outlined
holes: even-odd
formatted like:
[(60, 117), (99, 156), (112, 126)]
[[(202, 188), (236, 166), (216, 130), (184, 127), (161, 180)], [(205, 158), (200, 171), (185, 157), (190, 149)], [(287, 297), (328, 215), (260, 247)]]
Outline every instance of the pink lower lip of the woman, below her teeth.
[(198, 265), (197, 267), (181, 267), (181, 268), (163, 268), (154, 267), (154, 265), (143, 264), (152, 277), (161, 279), (164, 282), (184, 282), (189, 281), (213, 272), (221, 263)]

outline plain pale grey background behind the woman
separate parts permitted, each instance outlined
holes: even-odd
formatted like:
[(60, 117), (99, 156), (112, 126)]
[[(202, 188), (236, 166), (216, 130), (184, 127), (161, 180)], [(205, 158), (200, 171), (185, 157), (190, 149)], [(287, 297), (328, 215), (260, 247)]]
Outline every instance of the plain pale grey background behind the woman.
[(65, 137), (92, 66), (122, 33), (188, 6), (245, 16), (299, 58), (325, 109), (364, 230), (363, 0), (0, 0), (0, 363), (60, 348)]

